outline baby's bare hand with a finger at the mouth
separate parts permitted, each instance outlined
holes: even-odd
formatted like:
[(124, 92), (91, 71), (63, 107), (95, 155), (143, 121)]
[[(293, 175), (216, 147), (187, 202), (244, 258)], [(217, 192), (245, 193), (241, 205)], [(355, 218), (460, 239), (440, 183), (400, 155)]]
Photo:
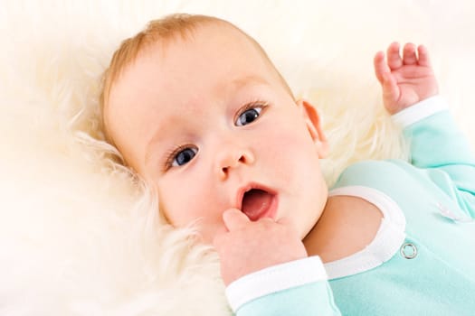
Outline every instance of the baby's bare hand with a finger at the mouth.
[(252, 272), (307, 256), (289, 220), (261, 218), (252, 222), (239, 209), (223, 213), (228, 231), (214, 238), (226, 285)]

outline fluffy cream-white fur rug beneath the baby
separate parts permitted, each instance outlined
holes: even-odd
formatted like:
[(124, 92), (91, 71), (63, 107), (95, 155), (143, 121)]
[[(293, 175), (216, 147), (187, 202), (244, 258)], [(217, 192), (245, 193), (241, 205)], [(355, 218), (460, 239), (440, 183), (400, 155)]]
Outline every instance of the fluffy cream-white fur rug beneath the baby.
[(152, 18), (214, 14), (261, 42), (323, 113), (329, 182), (352, 161), (404, 157), (372, 69), (395, 40), (427, 44), (475, 144), (470, 0), (18, 3), (0, 10), (0, 315), (230, 314), (213, 251), (163, 224), (94, 141), (100, 74)]

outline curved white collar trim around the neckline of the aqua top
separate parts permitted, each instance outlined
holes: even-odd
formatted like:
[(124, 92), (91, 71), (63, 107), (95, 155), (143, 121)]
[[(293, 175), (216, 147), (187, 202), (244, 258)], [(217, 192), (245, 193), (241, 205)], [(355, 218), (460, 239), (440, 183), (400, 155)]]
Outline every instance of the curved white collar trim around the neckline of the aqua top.
[(405, 238), (403, 210), (385, 193), (364, 186), (347, 186), (329, 192), (329, 196), (348, 195), (369, 201), (382, 213), (383, 220), (375, 239), (357, 253), (325, 264), (328, 279), (359, 274), (382, 265), (399, 250)]

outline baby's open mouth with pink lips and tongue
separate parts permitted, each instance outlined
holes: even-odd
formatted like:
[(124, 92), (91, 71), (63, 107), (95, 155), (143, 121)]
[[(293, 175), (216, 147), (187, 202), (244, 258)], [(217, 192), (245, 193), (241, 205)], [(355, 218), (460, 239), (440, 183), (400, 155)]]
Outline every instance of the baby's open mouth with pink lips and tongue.
[(252, 221), (273, 218), (276, 211), (276, 196), (261, 189), (251, 189), (242, 196), (241, 210)]

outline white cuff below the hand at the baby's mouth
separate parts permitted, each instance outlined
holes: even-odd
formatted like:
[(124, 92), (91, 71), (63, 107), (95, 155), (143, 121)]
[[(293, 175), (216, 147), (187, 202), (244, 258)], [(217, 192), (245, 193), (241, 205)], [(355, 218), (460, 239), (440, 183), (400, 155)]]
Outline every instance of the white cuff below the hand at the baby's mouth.
[(261, 296), (327, 279), (320, 257), (309, 256), (244, 275), (228, 285), (226, 296), (235, 312)]

